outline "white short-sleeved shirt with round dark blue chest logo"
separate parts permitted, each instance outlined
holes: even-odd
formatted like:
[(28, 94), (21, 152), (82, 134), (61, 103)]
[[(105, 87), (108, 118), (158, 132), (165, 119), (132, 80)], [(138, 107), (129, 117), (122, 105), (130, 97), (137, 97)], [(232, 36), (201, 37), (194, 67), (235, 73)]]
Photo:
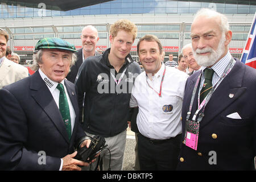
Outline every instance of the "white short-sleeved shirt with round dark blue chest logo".
[[(188, 75), (176, 68), (167, 67), (159, 97), (164, 64), (152, 77), (142, 72), (131, 92), (130, 107), (139, 107), (137, 125), (139, 132), (151, 139), (168, 139), (181, 133), (181, 106)], [(146, 81), (147, 80), (147, 81)], [(156, 93), (148, 84), (154, 88)]]

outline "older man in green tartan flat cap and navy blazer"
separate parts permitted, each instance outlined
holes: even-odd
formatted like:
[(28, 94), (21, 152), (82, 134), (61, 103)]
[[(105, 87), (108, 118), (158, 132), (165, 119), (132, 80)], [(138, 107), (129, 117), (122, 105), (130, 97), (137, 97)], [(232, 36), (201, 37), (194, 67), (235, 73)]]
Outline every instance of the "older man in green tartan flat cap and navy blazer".
[(35, 73), (0, 90), (0, 170), (80, 170), (75, 147), (89, 146), (78, 121), (75, 85), (64, 79), (76, 48), (39, 40)]

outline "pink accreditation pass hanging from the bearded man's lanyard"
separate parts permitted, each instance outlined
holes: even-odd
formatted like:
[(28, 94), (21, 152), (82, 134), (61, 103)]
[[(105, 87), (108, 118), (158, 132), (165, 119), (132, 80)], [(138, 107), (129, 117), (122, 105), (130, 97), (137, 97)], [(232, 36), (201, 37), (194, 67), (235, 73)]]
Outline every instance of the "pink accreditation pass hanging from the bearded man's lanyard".
[(186, 122), (185, 131), (185, 145), (192, 148), (193, 150), (197, 150), (197, 142), (199, 137), (199, 122), (188, 120)]

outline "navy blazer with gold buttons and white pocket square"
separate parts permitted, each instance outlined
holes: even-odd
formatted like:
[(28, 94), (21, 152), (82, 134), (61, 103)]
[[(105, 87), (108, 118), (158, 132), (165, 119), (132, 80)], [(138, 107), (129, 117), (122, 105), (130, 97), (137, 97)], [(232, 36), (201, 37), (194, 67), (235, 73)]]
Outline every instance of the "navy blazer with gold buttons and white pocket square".
[[(200, 72), (185, 85), (182, 135), (192, 90)], [(198, 88), (197, 93), (198, 94)], [(200, 122), (197, 151), (181, 144), (177, 170), (251, 170), (256, 151), (256, 70), (236, 61), (232, 71), (213, 92)], [(197, 97), (192, 115), (197, 109)], [(241, 119), (226, 117), (238, 113)]]

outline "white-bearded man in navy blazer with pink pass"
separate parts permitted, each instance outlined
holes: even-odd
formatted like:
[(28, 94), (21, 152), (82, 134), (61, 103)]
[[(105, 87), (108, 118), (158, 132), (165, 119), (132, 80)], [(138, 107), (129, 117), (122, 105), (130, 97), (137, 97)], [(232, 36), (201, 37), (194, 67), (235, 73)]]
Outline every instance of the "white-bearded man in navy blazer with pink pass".
[[(185, 86), (177, 169), (254, 170), (256, 70), (230, 55), (228, 19), (214, 10), (202, 9), (196, 14), (191, 38), (202, 70), (191, 75)], [(213, 73), (212, 88), (202, 98), (201, 90), (210, 84), (205, 84), (209, 72)]]

